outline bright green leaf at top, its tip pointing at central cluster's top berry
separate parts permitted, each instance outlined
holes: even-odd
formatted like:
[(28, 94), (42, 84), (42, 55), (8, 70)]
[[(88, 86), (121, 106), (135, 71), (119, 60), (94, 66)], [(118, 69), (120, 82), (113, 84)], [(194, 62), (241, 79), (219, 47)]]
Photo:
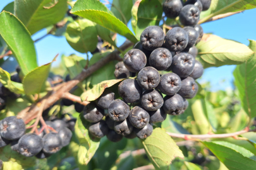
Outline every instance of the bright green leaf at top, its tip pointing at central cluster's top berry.
[(125, 36), (131, 42), (136, 43), (138, 41), (129, 28), (118, 20), (100, 1), (78, 0), (73, 6), (71, 13), (87, 18), (115, 33), (119, 33), (119, 35)]

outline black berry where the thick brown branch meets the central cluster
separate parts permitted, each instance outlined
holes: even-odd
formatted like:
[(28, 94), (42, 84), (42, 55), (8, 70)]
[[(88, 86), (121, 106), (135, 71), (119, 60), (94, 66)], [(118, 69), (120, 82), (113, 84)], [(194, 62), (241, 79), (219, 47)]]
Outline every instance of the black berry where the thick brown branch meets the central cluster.
[(123, 64), (130, 72), (139, 72), (147, 64), (146, 55), (138, 49), (131, 49), (123, 57)]

